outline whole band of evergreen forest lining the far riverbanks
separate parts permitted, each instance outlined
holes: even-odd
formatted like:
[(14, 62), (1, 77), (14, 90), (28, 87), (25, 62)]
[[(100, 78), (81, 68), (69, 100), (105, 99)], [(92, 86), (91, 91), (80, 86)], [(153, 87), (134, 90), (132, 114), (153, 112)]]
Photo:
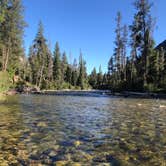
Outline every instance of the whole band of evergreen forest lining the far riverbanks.
[[(116, 18), (114, 54), (108, 72), (93, 69), (87, 74), (80, 51), (79, 60), (71, 64), (58, 42), (53, 53), (39, 23), (29, 55), (23, 49), (24, 21), (21, 0), (0, 1), (0, 71), (19, 76), (21, 84), (40, 89), (111, 89), (114, 91), (166, 90), (165, 48), (154, 48), (154, 19), (148, 0), (135, 0), (132, 25), (122, 25), (121, 13)], [(130, 50), (130, 53), (129, 53)]]

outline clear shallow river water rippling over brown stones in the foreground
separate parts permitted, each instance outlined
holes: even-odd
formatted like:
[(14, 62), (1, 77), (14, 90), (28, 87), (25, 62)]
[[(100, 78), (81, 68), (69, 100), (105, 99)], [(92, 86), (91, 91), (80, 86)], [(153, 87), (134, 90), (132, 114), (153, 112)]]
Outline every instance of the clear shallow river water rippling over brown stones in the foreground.
[(0, 113), (0, 165), (166, 165), (164, 100), (22, 95)]

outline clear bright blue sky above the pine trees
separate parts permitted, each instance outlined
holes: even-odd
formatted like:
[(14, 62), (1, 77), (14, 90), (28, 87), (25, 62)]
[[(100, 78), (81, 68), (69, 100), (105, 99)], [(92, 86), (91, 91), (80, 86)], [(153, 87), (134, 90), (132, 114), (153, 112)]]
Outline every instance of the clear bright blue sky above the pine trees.
[[(26, 53), (41, 20), (52, 50), (58, 41), (61, 52), (66, 51), (72, 62), (81, 49), (88, 73), (100, 65), (105, 72), (114, 48), (116, 13), (121, 11), (123, 24), (131, 24), (135, 11), (132, 3), (133, 0), (23, 0), (28, 23), (24, 36)], [(156, 44), (166, 39), (165, 6), (165, 0), (156, 0), (152, 9), (157, 20)]]

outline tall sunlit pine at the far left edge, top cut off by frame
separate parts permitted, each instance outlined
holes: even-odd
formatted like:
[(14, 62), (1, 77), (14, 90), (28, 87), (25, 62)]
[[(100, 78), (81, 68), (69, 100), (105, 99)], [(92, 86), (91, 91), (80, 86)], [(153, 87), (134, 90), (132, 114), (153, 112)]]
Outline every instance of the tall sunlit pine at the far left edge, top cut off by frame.
[(0, 2), (0, 56), (1, 69), (15, 73), (24, 58), (22, 37), (25, 27), (21, 0)]

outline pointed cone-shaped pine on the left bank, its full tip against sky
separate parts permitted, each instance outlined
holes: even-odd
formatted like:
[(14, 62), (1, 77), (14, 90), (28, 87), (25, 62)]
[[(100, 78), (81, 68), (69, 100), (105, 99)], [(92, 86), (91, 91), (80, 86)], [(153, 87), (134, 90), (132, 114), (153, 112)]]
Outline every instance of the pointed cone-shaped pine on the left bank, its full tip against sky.
[(52, 55), (43, 33), (43, 25), (40, 22), (37, 35), (30, 47), (29, 62), (32, 70), (32, 83), (45, 89), (52, 79)]

